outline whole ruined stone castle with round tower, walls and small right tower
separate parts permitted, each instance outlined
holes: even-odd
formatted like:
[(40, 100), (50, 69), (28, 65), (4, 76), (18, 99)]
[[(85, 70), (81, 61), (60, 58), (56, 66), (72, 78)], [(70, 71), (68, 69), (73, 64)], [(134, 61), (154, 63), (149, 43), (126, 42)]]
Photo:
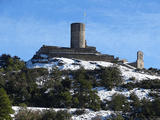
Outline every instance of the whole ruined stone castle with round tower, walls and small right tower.
[[(71, 24), (71, 45), (68, 47), (46, 46), (43, 45), (36, 55), (32, 59), (39, 59), (41, 55), (47, 55), (48, 58), (53, 57), (65, 57), (75, 58), (86, 61), (107, 61), (107, 62), (119, 62), (125, 61), (115, 58), (113, 55), (101, 54), (96, 50), (96, 47), (88, 46), (85, 40), (85, 24), (72, 23)], [(32, 61), (34, 62), (34, 61)], [(134, 63), (128, 63), (136, 68), (144, 68), (143, 53), (139, 51), (137, 53), (137, 61)]]

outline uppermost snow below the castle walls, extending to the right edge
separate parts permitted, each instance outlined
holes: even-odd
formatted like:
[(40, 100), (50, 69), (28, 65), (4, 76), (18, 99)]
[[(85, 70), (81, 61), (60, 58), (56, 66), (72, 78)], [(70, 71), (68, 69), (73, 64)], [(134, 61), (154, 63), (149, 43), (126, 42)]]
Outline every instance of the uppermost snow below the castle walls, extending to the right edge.
[[(46, 60), (45, 55), (41, 55)], [(99, 66), (109, 67), (112, 66), (113, 63), (104, 62), (104, 61), (84, 61), (84, 60), (76, 60), (76, 59), (69, 59), (69, 58), (51, 58), (48, 60), (48, 63), (38, 63), (38, 61), (44, 62), (43, 59), (39, 59), (32, 63), (32, 61), (27, 62), (28, 68), (47, 68), (51, 70), (53, 67), (58, 67), (60, 70), (77, 70), (81, 67), (85, 68), (86, 70), (94, 70), (98, 69)], [(125, 83), (132, 77), (136, 78), (137, 81), (140, 80), (147, 80), (147, 79), (160, 79), (160, 76), (148, 75), (145, 73), (138, 73), (135, 72), (135, 69), (130, 69), (128, 67), (119, 65), (119, 68), (122, 72), (122, 76), (124, 77)]]

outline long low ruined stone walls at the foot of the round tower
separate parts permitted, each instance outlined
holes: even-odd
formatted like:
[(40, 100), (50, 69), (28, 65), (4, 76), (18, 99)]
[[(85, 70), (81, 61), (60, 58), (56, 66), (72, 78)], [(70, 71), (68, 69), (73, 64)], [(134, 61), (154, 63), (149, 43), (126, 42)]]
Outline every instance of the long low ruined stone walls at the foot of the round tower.
[(38, 59), (41, 54), (47, 55), (49, 58), (53, 57), (65, 57), (65, 58), (75, 58), (86, 61), (114, 61), (114, 56), (112, 55), (102, 55), (96, 51), (96, 48), (61, 48), (53, 46), (43, 46), (36, 53), (33, 59)]

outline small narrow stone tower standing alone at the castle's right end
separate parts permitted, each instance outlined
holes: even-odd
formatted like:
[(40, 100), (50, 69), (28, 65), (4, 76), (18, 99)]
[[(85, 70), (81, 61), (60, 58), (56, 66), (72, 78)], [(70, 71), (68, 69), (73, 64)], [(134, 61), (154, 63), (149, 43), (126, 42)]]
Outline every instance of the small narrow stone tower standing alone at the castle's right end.
[(142, 51), (138, 51), (137, 52), (137, 68), (139, 69), (143, 69), (144, 68), (144, 61), (143, 61), (143, 52)]

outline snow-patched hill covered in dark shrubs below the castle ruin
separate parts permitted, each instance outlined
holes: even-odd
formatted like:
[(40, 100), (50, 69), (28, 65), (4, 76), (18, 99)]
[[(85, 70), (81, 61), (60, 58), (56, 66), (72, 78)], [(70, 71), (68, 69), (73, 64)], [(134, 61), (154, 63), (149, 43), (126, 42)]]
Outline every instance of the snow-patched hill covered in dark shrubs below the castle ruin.
[[(153, 109), (146, 113), (146, 108), (143, 108), (144, 105), (147, 107), (147, 104), (154, 105), (154, 101), (159, 98), (158, 69), (140, 70), (129, 65), (105, 61), (58, 57), (48, 60), (46, 57), (41, 59), (44, 63), (33, 63), (29, 60), (25, 65), (18, 57), (5, 56), (6, 61), (1, 64), (0, 83), (13, 101), (16, 113), (20, 109), (18, 106), (23, 103), (34, 111), (54, 108), (56, 111), (65, 109), (73, 114), (79, 110), (80, 113), (73, 114), (74, 120), (91, 120), (96, 116), (105, 120), (115, 117), (116, 114), (127, 119), (128, 115), (136, 117), (135, 114), (158, 116), (157, 113), (150, 113)], [(79, 98), (78, 89), (89, 96), (86, 94), (88, 97), (84, 95)], [(134, 95), (137, 96), (136, 101), (139, 101), (139, 108), (143, 108), (140, 113), (135, 111), (133, 103), (136, 102), (136, 97), (132, 98)], [(80, 100), (81, 104), (76, 105), (75, 98)], [(89, 102), (88, 98), (92, 102)], [(114, 98), (119, 102), (113, 102)], [(144, 104), (145, 102), (147, 104)], [(147, 109), (151, 109), (148, 107)]]

